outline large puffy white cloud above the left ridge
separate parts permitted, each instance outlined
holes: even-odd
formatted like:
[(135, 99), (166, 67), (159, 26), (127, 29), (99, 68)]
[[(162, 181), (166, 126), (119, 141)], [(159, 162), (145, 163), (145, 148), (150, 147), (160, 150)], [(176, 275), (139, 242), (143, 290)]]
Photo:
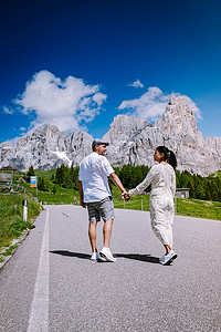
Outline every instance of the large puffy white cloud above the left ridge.
[(61, 80), (49, 71), (40, 71), (13, 103), (21, 106), (23, 114), (34, 115), (32, 126), (50, 123), (72, 132), (93, 121), (106, 98), (99, 85), (88, 85), (73, 76)]

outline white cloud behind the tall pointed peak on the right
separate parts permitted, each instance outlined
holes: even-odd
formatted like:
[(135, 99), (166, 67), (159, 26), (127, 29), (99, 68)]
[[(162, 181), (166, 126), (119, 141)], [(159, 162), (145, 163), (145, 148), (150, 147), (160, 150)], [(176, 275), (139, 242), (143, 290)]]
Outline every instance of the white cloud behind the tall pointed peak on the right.
[[(156, 122), (165, 113), (166, 106), (172, 95), (178, 96), (180, 94), (166, 94), (159, 87), (151, 86), (139, 98), (123, 101), (118, 110), (130, 110), (130, 115)], [(182, 96), (186, 98), (194, 115), (201, 117), (201, 112), (196, 103), (190, 97)]]

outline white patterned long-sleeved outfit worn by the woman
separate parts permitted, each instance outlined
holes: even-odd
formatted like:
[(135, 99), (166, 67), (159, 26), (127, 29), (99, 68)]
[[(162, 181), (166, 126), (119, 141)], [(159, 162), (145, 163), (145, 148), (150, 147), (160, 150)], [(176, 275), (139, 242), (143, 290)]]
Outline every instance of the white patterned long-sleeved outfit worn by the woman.
[(176, 193), (176, 174), (172, 166), (169, 164), (152, 166), (144, 181), (128, 194), (130, 196), (141, 194), (149, 185), (151, 185), (149, 208), (152, 230), (162, 245), (169, 245), (172, 248)]

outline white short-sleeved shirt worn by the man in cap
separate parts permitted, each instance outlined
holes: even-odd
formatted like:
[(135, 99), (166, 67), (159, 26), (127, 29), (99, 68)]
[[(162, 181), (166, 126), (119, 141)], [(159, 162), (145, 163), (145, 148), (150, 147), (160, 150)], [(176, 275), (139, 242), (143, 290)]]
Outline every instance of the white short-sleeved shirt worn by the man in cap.
[(108, 176), (114, 173), (106, 157), (93, 152), (80, 164), (78, 179), (82, 181), (84, 201), (99, 201), (112, 196)]

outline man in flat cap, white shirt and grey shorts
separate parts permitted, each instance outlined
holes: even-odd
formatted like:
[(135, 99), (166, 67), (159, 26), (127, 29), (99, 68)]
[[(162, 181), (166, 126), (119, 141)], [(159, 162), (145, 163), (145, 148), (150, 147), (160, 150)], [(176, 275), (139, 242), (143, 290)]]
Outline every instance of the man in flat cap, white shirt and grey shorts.
[(85, 157), (80, 164), (80, 198), (81, 206), (87, 206), (88, 211), (88, 236), (92, 246), (91, 260), (99, 259), (96, 248), (96, 226), (104, 220), (104, 247), (99, 255), (106, 261), (116, 261), (109, 250), (109, 241), (112, 236), (112, 228), (114, 221), (114, 204), (112, 193), (108, 186), (108, 176), (115, 185), (122, 190), (123, 197), (127, 194), (120, 179), (115, 174), (109, 162), (104, 156), (106, 147), (109, 145), (101, 138), (96, 138), (92, 143), (93, 153)]

